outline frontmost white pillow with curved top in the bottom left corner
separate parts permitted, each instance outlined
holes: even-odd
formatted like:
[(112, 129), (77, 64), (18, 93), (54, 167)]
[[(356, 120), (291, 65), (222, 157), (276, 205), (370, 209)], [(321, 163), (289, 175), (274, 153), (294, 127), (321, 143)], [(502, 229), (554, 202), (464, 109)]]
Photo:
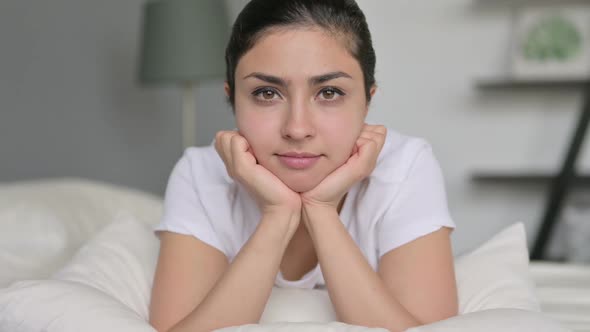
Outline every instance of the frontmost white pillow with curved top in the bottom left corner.
[(156, 330), (129, 307), (92, 287), (64, 280), (26, 280), (0, 290), (0, 331)]

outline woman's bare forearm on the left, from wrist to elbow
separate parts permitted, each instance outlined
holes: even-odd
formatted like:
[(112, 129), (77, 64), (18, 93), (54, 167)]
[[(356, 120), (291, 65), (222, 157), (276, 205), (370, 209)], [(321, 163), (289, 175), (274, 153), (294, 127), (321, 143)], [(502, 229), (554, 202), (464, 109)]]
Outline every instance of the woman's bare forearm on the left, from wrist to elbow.
[(234, 261), (203, 301), (173, 332), (211, 331), (258, 323), (298, 213), (265, 215)]

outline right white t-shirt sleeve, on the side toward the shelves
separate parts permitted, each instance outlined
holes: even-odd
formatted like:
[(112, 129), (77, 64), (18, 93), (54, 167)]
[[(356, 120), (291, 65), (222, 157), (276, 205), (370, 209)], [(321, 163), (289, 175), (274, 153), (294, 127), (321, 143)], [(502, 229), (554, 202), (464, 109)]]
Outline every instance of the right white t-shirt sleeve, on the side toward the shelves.
[(430, 145), (416, 154), (407, 177), (399, 185), (378, 227), (379, 258), (441, 227), (455, 228), (442, 171)]

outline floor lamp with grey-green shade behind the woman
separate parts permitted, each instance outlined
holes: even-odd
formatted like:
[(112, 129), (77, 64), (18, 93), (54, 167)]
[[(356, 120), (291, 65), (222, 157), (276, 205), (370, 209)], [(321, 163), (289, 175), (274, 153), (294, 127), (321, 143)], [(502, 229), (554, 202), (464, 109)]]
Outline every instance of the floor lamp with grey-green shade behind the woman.
[(183, 146), (196, 141), (195, 87), (222, 77), (229, 26), (223, 1), (155, 0), (143, 7), (139, 81), (182, 87)]

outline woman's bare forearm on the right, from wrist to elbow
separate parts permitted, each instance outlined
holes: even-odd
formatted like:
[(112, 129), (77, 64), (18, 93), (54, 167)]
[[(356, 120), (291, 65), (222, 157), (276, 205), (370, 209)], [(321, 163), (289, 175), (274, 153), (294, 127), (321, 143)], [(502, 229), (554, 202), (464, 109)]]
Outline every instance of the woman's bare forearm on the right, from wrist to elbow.
[(389, 293), (335, 210), (305, 208), (303, 214), (339, 320), (392, 332), (420, 325)]

